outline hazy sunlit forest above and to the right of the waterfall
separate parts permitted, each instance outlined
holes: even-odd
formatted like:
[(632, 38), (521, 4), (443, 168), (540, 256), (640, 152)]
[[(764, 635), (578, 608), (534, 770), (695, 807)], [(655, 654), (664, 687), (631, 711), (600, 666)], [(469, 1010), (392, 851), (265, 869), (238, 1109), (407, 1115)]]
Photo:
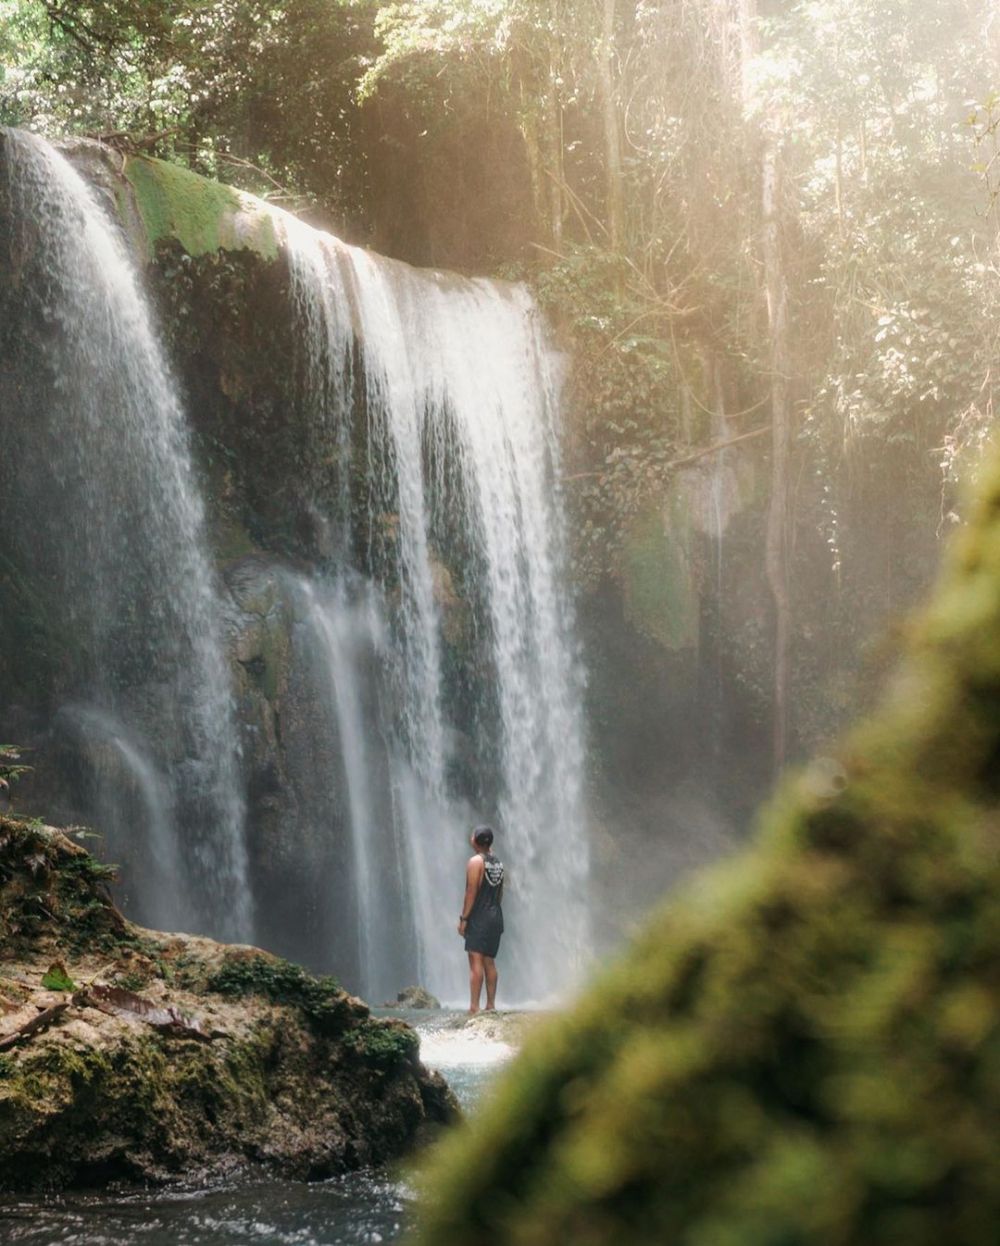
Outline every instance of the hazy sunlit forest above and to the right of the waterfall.
[[(747, 809), (863, 704), (870, 638), (932, 578), (994, 419), (988, 0), (4, 0), (0, 66), (0, 123), (533, 285), (574, 364), (574, 566), (619, 795), (695, 701), (691, 746), (729, 733), (716, 770), (738, 755)], [(691, 640), (649, 622), (684, 591), (659, 554), (664, 583), (635, 583), (644, 525), (732, 454), (736, 571), (724, 591), (721, 549), (687, 551)]]

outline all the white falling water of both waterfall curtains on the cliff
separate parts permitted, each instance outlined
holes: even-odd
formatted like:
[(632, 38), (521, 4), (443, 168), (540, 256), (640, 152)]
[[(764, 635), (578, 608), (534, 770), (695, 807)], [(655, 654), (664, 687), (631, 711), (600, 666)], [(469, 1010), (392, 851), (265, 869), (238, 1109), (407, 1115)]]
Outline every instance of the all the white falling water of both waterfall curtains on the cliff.
[[(0, 233), (24, 298), (0, 334), (7, 375), (32, 383), (0, 411), (17, 462), (0, 464), (0, 512), (42, 613), (66, 622), (41, 665), (75, 759), (70, 807), (108, 832), (138, 916), (245, 937), (222, 604), (176, 385), (101, 192), (41, 140), (4, 141)], [(288, 835), (308, 832), (283, 861), (336, 888), (319, 918), (319, 882), (309, 916), (281, 897), (268, 928), (321, 927), (318, 967), (371, 998), (415, 981), (461, 998), (467, 835), (491, 821), (508, 865), (504, 998), (550, 998), (589, 947), (558, 358), (521, 288), (418, 272), (245, 202), (286, 243), (316, 467), (314, 569), (273, 571), (296, 689)]]

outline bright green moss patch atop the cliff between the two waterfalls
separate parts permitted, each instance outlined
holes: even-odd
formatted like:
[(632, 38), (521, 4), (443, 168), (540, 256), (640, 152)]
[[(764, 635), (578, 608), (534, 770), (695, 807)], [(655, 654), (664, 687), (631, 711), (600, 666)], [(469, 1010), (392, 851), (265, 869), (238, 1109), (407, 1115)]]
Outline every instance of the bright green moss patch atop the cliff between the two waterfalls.
[(276, 258), (274, 222), (265, 212), (248, 211), (239, 191), (147, 157), (130, 158), (125, 176), (151, 248), (173, 238), (188, 255), (247, 249), (265, 259)]

